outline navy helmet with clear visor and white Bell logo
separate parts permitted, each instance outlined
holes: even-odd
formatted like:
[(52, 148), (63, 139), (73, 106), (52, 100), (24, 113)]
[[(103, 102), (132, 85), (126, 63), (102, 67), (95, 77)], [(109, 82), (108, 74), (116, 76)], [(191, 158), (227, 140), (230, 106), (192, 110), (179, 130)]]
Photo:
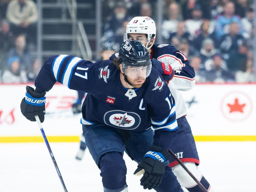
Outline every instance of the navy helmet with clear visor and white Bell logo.
[(152, 63), (147, 48), (138, 40), (125, 41), (119, 50), (119, 61), (125, 75), (143, 79), (149, 76)]

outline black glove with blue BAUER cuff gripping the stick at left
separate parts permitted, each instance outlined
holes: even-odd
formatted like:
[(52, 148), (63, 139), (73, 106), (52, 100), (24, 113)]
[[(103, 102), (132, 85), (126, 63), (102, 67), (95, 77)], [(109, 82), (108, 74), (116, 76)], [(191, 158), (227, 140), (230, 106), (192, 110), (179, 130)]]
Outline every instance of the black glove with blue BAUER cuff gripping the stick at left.
[(26, 86), (26, 96), (21, 100), (20, 110), (30, 121), (36, 121), (38, 115), (41, 123), (44, 122), (45, 114), (45, 93), (38, 93), (32, 87)]

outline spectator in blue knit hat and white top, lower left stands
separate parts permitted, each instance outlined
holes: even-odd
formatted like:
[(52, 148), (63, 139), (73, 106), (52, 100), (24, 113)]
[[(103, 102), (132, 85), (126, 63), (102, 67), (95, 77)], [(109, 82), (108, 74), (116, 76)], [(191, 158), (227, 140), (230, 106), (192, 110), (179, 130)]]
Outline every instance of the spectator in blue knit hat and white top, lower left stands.
[(28, 82), (27, 74), (20, 68), (19, 57), (10, 57), (8, 59), (9, 69), (3, 73), (3, 83), (26, 83)]

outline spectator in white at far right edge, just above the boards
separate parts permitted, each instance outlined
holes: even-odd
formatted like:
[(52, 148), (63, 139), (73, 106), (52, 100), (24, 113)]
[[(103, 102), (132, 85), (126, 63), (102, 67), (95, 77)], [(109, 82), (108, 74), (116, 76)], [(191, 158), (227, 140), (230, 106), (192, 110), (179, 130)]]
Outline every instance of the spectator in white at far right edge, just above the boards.
[(238, 83), (247, 83), (247, 82), (255, 82), (256, 77), (253, 70), (253, 62), (251, 59), (246, 61), (246, 70), (241, 71), (238, 70), (235, 73), (236, 82)]

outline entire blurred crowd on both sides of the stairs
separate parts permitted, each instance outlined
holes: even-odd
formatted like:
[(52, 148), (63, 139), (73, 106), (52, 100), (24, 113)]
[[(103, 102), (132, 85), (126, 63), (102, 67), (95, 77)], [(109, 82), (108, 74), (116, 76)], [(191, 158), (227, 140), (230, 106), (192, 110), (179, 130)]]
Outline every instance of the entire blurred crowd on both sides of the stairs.
[[(34, 81), (41, 67), (31, 56), (36, 47), (38, 10), (35, 2), (0, 1), (0, 82)], [(196, 82), (256, 81), (252, 0), (163, 2), (164, 19), (157, 23), (156, 0), (102, 1), (102, 44), (112, 44), (108, 47), (115, 47), (112, 51), (117, 51), (128, 22), (134, 16), (148, 16), (161, 27), (156, 43), (161, 37), (164, 44), (183, 52), (195, 69)]]

